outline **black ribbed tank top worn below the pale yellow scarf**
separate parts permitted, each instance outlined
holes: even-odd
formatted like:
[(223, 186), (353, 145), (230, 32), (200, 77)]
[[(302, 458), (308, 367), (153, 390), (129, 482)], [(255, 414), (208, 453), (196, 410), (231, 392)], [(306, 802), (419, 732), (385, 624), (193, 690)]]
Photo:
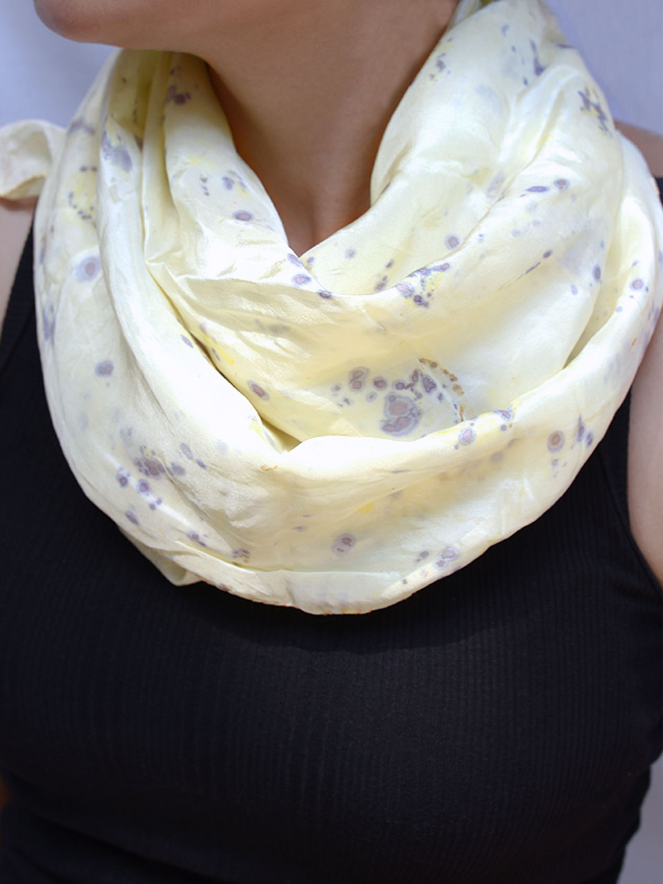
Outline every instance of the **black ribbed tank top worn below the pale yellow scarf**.
[(628, 400), (554, 507), (398, 605), (178, 588), (67, 468), (31, 263), (0, 347), (2, 884), (617, 880), (661, 747)]

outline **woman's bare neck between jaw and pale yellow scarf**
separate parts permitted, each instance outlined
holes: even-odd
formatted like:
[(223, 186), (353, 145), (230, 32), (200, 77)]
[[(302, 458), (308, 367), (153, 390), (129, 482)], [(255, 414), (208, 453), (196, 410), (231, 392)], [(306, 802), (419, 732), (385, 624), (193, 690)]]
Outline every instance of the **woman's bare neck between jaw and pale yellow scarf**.
[(385, 126), (456, 4), (291, 0), (197, 50), (298, 254), (368, 209)]

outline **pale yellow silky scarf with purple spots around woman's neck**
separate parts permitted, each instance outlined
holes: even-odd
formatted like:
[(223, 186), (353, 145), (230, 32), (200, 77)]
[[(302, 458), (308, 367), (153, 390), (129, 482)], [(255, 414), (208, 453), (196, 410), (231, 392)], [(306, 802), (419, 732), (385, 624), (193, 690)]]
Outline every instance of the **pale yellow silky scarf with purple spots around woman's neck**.
[[(298, 256), (195, 57), (121, 51), (66, 133), (0, 134), (50, 413), (173, 583), (363, 613), (560, 498), (663, 300), (642, 156), (538, 0), (461, 0), (370, 209)], [(440, 586), (443, 591), (443, 584)]]

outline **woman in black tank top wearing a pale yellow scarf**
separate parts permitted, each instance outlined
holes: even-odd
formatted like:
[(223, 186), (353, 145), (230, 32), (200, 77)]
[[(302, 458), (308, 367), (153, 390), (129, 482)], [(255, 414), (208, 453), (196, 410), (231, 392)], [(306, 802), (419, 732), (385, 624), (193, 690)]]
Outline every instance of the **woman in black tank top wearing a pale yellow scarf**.
[[(64, 149), (53, 133), (36, 149), (34, 130), (10, 144), (63, 158), (35, 228), (44, 380), (73, 473), (136, 549), (52, 436), (23, 267), (3, 354), (4, 415), (35, 403), (11, 442), (29, 471), (8, 492), (4, 878), (617, 880), (659, 751), (658, 340), (589, 454), (659, 305), (644, 164), (537, 3), (195, 13), (40, 4), (74, 39), (174, 48), (210, 77), (126, 55)], [(29, 178), (19, 162), (5, 174), (14, 193)], [(496, 359), (485, 341), (506, 313)], [(462, 373), (431, 358), (429, 324), (463, 341)], [(421, 354), (403, 380), (401, 329)], [(383, 351), (392, 374), (363, 361)], [(332, 357), (345, 387), (323, 396), (307, 372), (329, 377)], [(569, 375), (582, 414), (563, 404)], [(478, 407), (493, 383), (513, 398)], [(548, 425), (555, 409), (572, 430)], [(385, 464), (388, 493), (371, 484)], [(290, 522), (298, 495), (310, 511)], [(430, 548), (423, 514), (448, 531)]]

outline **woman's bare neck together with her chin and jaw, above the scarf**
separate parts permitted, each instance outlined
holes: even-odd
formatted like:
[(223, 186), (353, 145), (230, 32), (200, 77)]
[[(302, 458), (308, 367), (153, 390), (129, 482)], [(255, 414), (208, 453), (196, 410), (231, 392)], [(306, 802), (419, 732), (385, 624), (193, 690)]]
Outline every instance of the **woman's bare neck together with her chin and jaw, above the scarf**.
[(369, 208), (385, 126), (457, 2), (190, 0), (186, 20), (174, 0), (36, 9), (74, 40), (203, 58), (240, 156), (301, 254)]

